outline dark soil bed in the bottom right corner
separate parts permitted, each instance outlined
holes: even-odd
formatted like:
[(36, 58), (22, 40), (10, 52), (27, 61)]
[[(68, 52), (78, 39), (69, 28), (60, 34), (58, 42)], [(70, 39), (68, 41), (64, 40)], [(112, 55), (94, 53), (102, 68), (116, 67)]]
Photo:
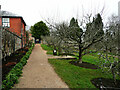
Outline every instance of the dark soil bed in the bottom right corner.
[(91, 80), (92, 84), (95, 85), (96, 88), (99, 88), (101, 86), (104, 87), (103, 90), (120, 90), (120, 80), (117, 80), (117, 84), (114, 85), (113, 79), (107, 79), (107, 78), (95, 78)]

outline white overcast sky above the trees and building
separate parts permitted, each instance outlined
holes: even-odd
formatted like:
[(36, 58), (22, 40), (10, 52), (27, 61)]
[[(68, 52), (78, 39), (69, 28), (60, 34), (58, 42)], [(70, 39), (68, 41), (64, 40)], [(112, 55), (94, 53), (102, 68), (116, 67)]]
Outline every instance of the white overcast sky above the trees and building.
[(118, 14), (120, 0), (0, 0), (2, 10), (21, 15), (31, 26), (43, 19), (69, 21), (88, 13), (96, 14), (104, 8), (103, 20)]

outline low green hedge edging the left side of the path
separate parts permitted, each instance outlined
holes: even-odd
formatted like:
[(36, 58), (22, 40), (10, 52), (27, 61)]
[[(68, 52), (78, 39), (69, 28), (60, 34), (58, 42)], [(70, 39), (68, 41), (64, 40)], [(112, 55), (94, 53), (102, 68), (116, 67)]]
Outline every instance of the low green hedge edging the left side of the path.
[(31, 45), (28, 52), (25, 54), (25, 56), (22, 57), (19, 63), (17, 63), (12, 70), (8, 73), (5, 80), (2, 82), (2, 89), (3, 90), (9, 90), (11, 89), (15, 83), (18, 83), (18, 79), (22, 74), (23, 66), (26, 65), (27, 60), (32, 52), (32, 49), (34, 47), (34, 44)]

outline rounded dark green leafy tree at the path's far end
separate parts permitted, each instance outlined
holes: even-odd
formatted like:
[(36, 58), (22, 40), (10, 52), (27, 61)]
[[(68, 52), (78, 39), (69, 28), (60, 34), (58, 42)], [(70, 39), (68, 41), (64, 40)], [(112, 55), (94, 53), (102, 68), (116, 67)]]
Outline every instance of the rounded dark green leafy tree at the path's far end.
[(37, 22), (31, 26), (31, 34), (36, 39), (41, 39), (41, 36), (49, 35), (49, 29), (43, 21)]

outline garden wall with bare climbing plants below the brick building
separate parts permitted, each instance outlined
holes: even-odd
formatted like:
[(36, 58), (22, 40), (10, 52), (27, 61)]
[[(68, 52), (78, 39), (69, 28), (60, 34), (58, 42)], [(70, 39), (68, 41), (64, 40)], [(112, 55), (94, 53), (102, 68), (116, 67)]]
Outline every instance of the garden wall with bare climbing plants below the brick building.
[(9, 31), (9, 28), (1, 28), (1, 40), (2, 40), (2, 58), (10, 56), (11, 53), (21, 48), (22, 38), (13, 32)]

